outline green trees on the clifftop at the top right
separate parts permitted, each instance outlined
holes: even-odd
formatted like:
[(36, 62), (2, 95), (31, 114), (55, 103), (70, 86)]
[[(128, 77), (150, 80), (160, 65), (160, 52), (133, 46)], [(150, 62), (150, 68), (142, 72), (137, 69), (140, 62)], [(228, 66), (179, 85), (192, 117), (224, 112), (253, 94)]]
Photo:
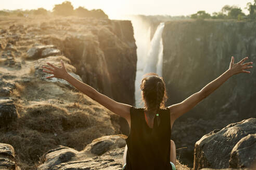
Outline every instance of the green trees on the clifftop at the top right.
[(255, 20), (256, 19), (256, 0), (254, 3), (247, 3), (246, 8), (250, 13), (245, 15), (242, 9), (237, 6), (225, 5), (220, 12), (213, 12), (212, 15), (206, 11), (198, 11), (190, 16), (191, 19), (235, 19), (235, 20)]

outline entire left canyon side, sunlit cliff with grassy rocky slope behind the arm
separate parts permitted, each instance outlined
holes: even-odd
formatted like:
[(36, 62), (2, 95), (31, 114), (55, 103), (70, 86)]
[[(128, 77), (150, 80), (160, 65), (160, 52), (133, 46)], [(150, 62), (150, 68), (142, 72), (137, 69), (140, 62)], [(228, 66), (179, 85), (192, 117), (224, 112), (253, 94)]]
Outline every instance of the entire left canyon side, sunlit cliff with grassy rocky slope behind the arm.
[(130, 21), (0, 18), (0, 141), (16, 152), (8, 166), (37, 169), (49, 149), (81, 151), (98, 137), (129, 130), (66, 80), (45, 78), (42, 66), (59, 67), (60, 60), (71, 76), (134, 104), (137, 58)]

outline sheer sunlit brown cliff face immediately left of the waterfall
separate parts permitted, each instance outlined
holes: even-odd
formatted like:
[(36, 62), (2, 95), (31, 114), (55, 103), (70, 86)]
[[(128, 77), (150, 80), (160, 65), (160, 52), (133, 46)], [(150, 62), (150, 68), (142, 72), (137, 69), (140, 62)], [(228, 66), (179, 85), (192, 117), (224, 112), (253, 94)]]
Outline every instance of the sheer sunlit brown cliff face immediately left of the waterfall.
[[(83, 82), (113, 100), (135, 104), (136, 44), (131, 21), (69, 20), (69, 34), (63, 36), (56, 26), (41, 43), (55, 45), (71, 60)], [(52, 25), (52, 21), (49, 21)], [(57, 24), (57, 23), (56, 23)], [(81, 29), (82, 25), (82, 29)], [(93, 25), (93, 26), (92, 26)], [(121, 131), (129, 134), (129, 125), (120, 118)]]

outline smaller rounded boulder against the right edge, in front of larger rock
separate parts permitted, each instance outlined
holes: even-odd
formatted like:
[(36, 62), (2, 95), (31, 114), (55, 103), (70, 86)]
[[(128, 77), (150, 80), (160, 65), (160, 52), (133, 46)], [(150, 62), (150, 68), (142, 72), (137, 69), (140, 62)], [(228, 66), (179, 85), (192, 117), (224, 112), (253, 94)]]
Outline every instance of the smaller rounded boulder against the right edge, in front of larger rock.
[(231, 151), (229, 167), (250, 167), (253, 161), (256, 161), (256, 133), (249, 134), (238, 141)]

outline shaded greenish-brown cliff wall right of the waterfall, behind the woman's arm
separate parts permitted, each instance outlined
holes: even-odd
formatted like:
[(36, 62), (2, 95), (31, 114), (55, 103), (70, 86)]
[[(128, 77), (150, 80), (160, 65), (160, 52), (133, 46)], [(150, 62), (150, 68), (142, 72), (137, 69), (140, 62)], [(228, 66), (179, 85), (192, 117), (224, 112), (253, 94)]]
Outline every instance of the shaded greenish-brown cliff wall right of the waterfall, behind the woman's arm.
[[(185, 100), (224, 73), (234, 55), (237, 63), (245, 56), (256, 59), (255, 22), (170, 21), (163, 30), (163, 79), (167, 105)], [(246, 61), (246, 62), (247, 62)], [(255, 117), (253, 101), (256, 78), (239, 74), (175, 121), (172, 137), (180, 159), (192, 165), (194, 145), (204, 134), (229, 123)], [(247, 82), (247, 83), (245, 83)]]

